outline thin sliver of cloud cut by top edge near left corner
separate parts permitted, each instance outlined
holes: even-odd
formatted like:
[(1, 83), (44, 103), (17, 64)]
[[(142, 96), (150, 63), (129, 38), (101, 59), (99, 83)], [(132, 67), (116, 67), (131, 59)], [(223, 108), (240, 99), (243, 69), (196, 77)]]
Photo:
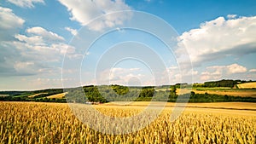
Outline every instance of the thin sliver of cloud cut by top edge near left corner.
[(8, 2), (21, 8), (34, 8), (34, 3), (44, 3), (44, 0), (8, 0)]

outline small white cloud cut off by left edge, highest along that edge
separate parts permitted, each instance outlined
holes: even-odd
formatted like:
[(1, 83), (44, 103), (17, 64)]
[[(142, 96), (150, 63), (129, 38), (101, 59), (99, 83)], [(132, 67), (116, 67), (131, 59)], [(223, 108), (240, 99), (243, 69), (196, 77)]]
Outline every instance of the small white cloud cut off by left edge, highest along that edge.
[(13, 13), (12, 9), (0, 7), (0, 39), (8, 40), (23, 26), (25, 20)]

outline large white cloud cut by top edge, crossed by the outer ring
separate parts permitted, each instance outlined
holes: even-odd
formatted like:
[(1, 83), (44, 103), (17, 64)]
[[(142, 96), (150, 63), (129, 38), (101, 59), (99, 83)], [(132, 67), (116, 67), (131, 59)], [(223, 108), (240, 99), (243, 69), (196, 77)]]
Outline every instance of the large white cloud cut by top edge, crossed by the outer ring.
[[(71, 20), (78, 21), (81, 25), (86, 26), (91, 20), (102, 14), (109, 14), (120, 10), (131, 10), (122, 0), (59, 0), (61, 4), (67, 7), (72, 15)], [(105, 27), (113, 27), (122, 25), (124, 20), (130, 18), (131, 15), (111, 14), (104, 17), (103, 20), (96, 21), (88, 25), (90, 30), (101, 31)]]

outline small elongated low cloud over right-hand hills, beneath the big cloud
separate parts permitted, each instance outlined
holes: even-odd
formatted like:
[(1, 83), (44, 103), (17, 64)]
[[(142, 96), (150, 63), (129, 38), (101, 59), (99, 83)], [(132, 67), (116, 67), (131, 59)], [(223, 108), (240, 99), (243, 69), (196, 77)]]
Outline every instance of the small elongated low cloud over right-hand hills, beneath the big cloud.
[(200, 79), (202, 81), (218, 80), (222, 78), (230, 78), (237, 73), (245, 73), (247, 68), (238, 64), (231, 64), (228, 66), (207, 66), (205, 72), (201, 72)]

